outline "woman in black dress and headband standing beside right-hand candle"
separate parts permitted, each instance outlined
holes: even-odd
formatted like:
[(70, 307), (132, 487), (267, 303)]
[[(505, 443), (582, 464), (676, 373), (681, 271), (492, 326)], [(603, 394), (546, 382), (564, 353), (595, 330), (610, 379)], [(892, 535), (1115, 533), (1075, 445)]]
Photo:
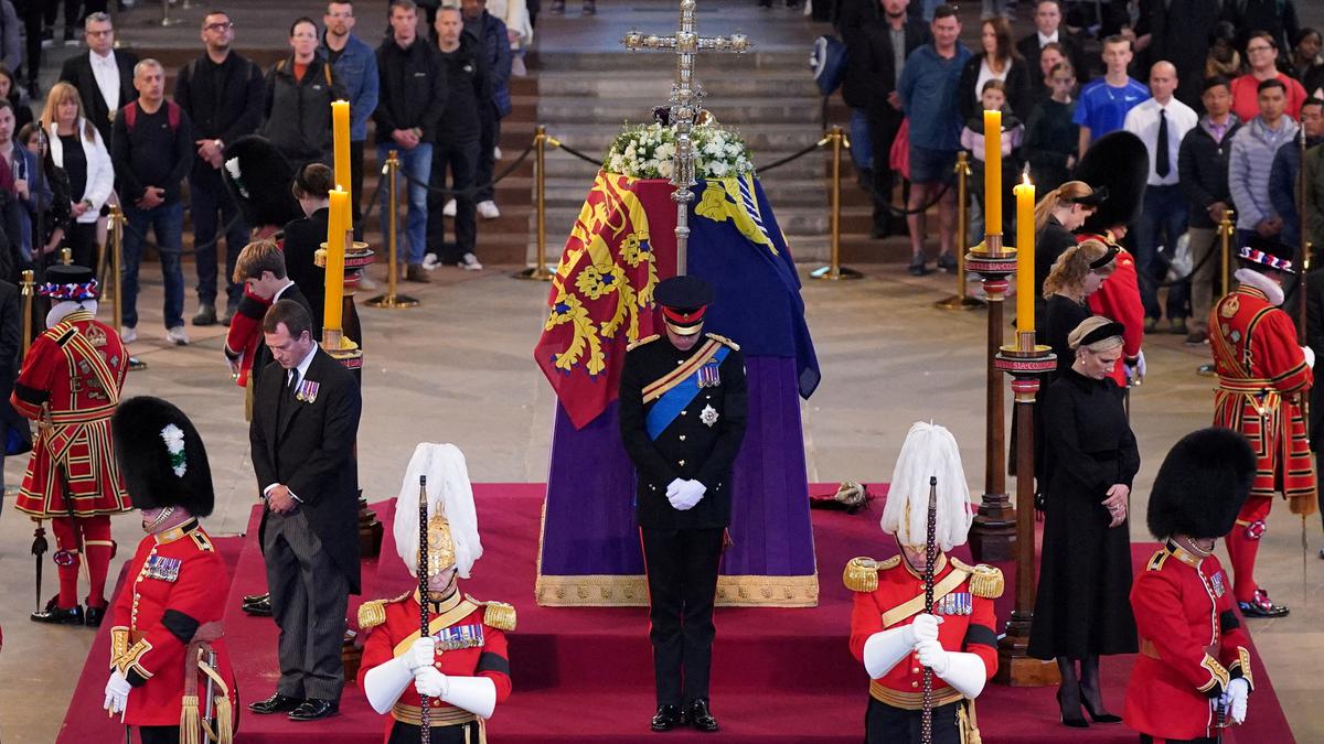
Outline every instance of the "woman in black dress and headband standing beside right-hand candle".
[[(1120, 323), (1087, 318), (1071, 331), (1072, 363), (1041, 393), (1047, 496), (1029, 653), (1057, 659), (1062, 723), (1117, 723), (1103, 706), (1099, 657), (1136, 653), (1131, 613), (1131, 481), (1140, 470), (1121, 389)], [(1079, 665), (1079, 671), (1076, 670)]]

